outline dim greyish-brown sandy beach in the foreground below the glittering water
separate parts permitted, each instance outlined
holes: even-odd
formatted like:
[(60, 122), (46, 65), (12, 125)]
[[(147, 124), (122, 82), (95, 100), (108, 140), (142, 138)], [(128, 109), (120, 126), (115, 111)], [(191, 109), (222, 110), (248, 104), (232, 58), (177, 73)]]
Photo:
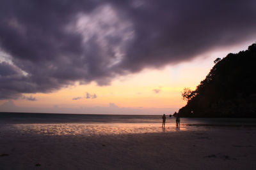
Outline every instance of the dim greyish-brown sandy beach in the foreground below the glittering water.
[(0, 169), (256, 169), (255, 127), (90, 135), (6, 127)]

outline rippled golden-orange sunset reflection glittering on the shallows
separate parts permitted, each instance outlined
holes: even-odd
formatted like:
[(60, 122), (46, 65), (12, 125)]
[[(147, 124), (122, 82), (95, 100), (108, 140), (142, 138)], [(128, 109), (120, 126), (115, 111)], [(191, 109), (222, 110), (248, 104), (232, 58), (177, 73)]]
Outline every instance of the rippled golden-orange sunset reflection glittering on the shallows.
[[(139, 134), (177, 131), (175, 125), (161, 124), (13, 124), (12, 131), (20, 134), (45, 135), (98, 135), (98, 134)], [(186, 127), (179, 130), (187, 131)]]

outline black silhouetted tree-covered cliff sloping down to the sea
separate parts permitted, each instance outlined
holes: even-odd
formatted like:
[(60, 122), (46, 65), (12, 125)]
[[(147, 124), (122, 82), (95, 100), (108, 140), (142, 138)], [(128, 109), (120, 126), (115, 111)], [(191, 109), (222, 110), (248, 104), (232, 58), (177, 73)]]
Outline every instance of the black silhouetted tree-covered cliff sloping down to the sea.
[(214, 63), (196, 90), (184, 89), (180, 116), (256, 117), (256, 43)]

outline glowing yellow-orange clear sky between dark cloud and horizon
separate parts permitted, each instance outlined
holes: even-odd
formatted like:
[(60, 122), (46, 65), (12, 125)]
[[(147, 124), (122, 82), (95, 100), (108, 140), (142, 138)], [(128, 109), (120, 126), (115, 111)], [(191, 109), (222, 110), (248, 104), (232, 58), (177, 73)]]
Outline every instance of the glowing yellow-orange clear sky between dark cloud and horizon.
[[(237, 49), (246, 49), (246, 45), (216, 50), (162, 69), (144, 69), (138, 74), (117, 77), (106, 86), (99, 86), (95, 82), (79, 85), (79, 82), (76, 82), (75, 85), (47, 94), (24, 94), (27, 97), (35, 97), (36, 101), (21, 98), (14, 103), (19, 107), (33, 108), (93, 108), (108, 107), (109, 103), (113, 103), (120, 108), (179, 109), (186, 105), (186, 101), (181, 97), (184, 87), (194, 90), (209, 73), (216, 57), (224, 57), (232, 50), (236, 52)], [(86, 92), (95, 94), (97, 98), (86, 99)], [(77, 97), (78, 99), (74, 100)], [(0, 104), (6, 101), (0, 101)]]

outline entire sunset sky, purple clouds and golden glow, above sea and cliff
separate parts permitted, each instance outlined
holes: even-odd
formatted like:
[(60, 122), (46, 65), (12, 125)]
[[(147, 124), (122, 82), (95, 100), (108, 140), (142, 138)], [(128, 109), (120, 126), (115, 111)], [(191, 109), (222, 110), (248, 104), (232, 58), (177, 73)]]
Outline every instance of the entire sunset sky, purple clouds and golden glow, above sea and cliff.
[(162, 114), (256, 39), (255, 1), (1, 1), (0, 111)]

